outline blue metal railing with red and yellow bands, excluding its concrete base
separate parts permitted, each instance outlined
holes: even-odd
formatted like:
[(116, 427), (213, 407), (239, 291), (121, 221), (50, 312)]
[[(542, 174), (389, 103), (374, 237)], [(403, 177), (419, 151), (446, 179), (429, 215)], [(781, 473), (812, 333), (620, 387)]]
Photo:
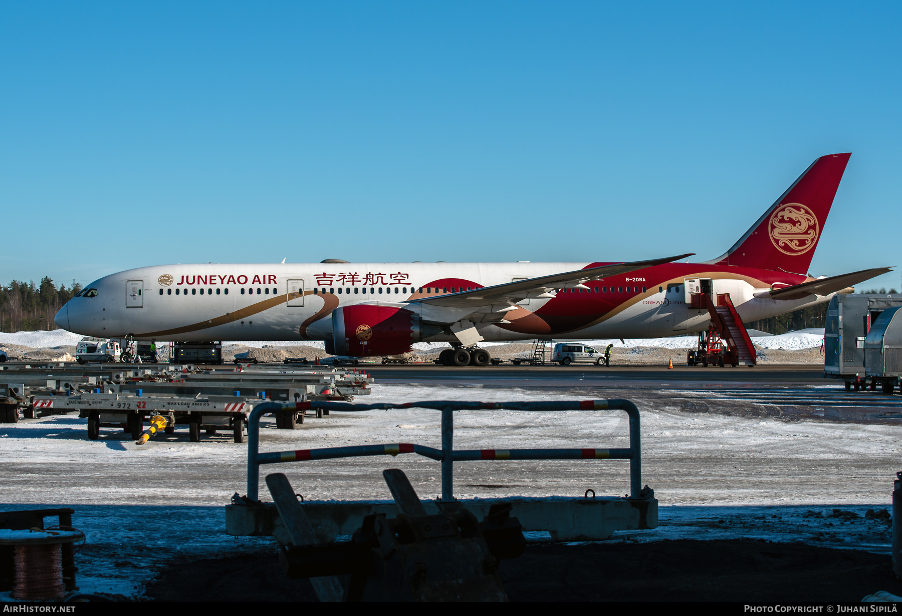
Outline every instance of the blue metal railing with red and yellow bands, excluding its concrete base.
[[(442, 412), (442, 448), (394, 443), (390, 445), (360, 445), (297, 449), (260, 453), (260, 418), (266, 413), (323, 409), (323, 410), (384, 410), (384, 409), (434, 409)], [(627, 449), (462, 449), (455, 450), (454, 411), (456, 410), (623, 410), (630, 418), (630, 447)], [(305, 460), (358, 457), (363, 455), (419, 454), (442, 464), (442, 501), (454, 500), (454, 463), (470, 460), (630, 460), (630, 498), (640, 498), (642, 485), (642, 461), (640, 449), (639, 409), (630, 400), (560, 400), (515, 402), (458, 402), (429, 400), (405, 404), (352, 404), (311, 400), (296, 404), (263, 402), (251, 411), (247, 424), (247, 496), (259, 500), (260, 465)]]

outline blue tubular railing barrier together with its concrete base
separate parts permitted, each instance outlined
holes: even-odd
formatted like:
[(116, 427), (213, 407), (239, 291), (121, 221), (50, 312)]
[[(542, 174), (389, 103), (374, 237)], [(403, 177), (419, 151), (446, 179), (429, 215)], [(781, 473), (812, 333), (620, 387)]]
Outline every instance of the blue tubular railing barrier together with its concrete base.
[[(516, 402), (459, 402), (423, 401), (406, 404), (349, 404), (312, 400), (300, 403), (298, 409), (331, 409), (364, 411), (372, 409), (434, 409), (441, 411), (442, 448), (410, 443), (301, 449), (282, 452), (259, 452), (260, 418), (266, 412), (284, 409), (289, 405), (266, 402), (257, 405), (248, 418), (247, 494), (235, 494), (232, 505), (226, 506), (226, 532), (231, 535), (273, 535), (284, 538), (278, 511), (272, 505), (258, 501), (261, 464), (279, 464), (368, 455), (419, 454), (441, 463), (441, 499), (424, 503), (428, 513), (453, 511), (465, 507), (477, 518), (490, 514), (492, 505), (510, 503), (511, 515), (520, 519), (524, 530), (545, 530), (558, 540), (600, 540), (614, 530), (654, 529), (658, 526), (658, 501), (654, 491), (641, 485), (640, 416), (630, 400), (559, 400)], [(619, 449), (474, 449), (456, 450), (454, 413), (459, 410), (527, 410), (537, 412), (582, 410), (601, 411), (621, 409), (630, 418), (630, 446)], [(478, 499), (457, 501), (454, 497), (453, 469), (456, 462), (489, 460), (613, 460), (630, 461), (630, 493), (626, 497), (595, 498), (519, 498)], [(588, 492), (586, 492), (588, 493)], [(359, 528), (364, 517), (391, 514), (394, 503), (366, 501), (325, 501), (305, 503), (305, 510), (323, 542), (335, 540), (338, 534), (351, 534)], [(287, 541), (283, 541), (286, 543)]]

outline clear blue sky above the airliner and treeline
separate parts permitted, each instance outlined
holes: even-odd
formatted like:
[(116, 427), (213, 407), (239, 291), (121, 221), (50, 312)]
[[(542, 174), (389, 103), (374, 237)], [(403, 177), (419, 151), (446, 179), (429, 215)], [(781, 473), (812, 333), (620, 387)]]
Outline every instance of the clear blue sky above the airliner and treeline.
[(0, 282), (282, 258), (704, 260), (833, 152), (853, 154), (811, 271), (902, 264), (900, 13), (5, 3)]

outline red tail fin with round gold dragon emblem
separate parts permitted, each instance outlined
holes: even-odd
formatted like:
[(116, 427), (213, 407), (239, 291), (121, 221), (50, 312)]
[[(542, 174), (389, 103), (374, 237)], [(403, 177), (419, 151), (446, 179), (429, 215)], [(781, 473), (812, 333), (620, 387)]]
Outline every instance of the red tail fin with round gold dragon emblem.
[(811, 164), (739, 242), (713, 263), (805, 274), (851, 153)]

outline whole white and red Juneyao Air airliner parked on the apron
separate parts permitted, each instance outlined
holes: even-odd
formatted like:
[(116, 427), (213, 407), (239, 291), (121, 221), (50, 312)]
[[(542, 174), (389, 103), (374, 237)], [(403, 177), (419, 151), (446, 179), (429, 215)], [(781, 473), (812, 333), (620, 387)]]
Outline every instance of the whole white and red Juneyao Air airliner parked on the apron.
[(329, 354), (366, 357), (418, 342), (476, 353), (483, 340), (698, 332), (710, 322), (691, 305), (698, 293), (729, 293), (744, 322), (775, 317), (889, 271), (807, 273), (850, 156), (813, 162), (711, 261), (688, 262), (690, 253), (641, 262), (154, 265), (92, 282), (55, 321), (85, 336), (158, 342), (321, 340)]

